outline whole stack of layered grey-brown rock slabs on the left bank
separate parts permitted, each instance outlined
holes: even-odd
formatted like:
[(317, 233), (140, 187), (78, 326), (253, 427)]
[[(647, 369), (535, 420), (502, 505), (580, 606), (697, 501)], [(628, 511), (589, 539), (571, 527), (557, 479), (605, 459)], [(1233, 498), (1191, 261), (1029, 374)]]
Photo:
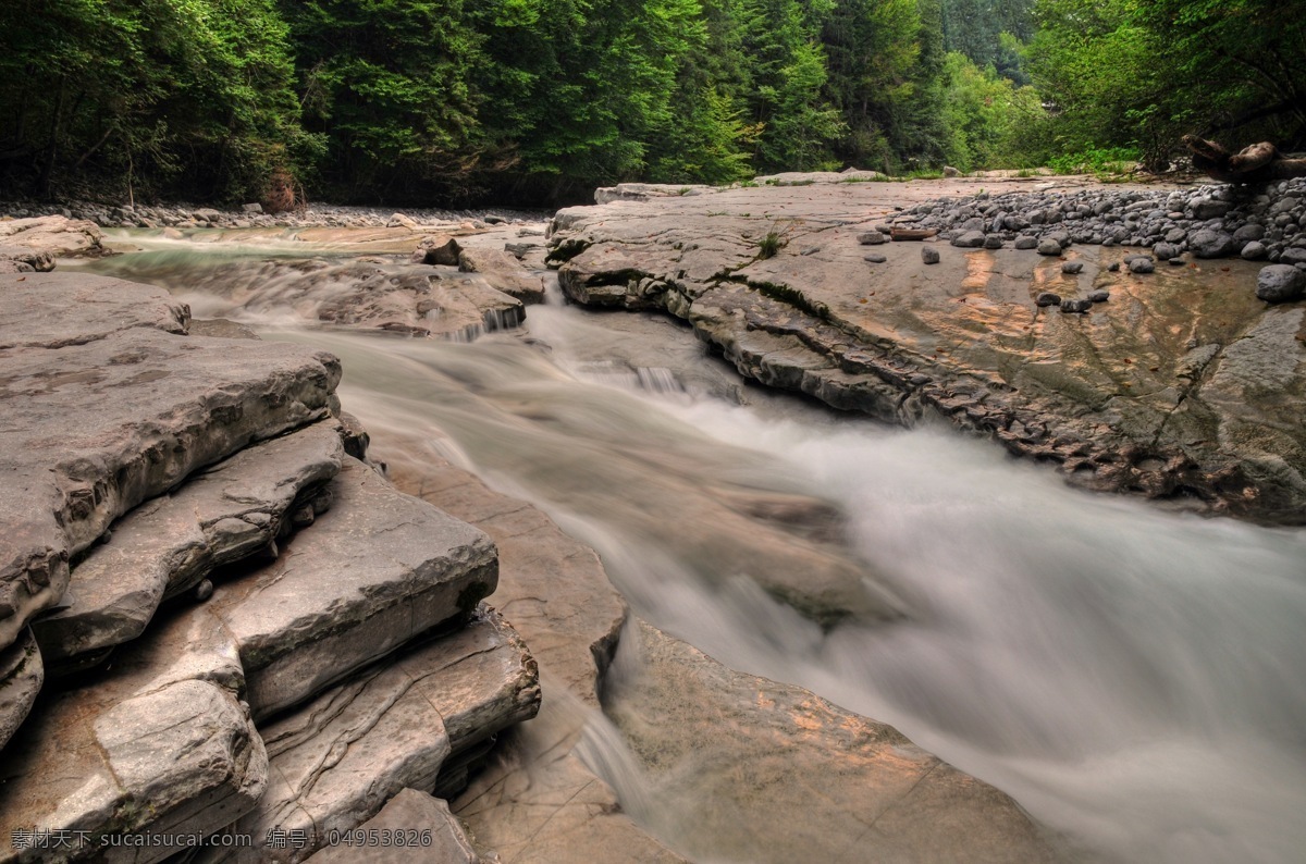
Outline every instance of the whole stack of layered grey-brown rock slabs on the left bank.
[(336, 358), (81, 274), (0, 321), (0, 861), (304, 860), (535, 714), (494, 543), (360, 461)]

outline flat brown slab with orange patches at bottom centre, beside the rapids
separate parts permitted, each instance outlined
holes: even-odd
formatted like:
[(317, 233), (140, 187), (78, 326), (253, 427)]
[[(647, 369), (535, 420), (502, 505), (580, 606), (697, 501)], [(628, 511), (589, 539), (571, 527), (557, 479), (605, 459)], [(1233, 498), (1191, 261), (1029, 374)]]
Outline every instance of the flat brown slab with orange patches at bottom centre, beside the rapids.
[(1062, 860), (1007, 795), (887, 724), (734, 672), (644, 623), (620, 651), (639, 672), (614, 681), (609, 713), (695, 859)]

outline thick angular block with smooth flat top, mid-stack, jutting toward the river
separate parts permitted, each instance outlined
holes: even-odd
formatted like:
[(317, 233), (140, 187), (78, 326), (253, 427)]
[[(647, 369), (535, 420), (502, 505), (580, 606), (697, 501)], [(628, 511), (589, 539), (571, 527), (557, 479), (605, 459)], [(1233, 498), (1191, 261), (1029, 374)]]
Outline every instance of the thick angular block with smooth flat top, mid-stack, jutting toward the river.
[(469, 615), (498, 582), (490, 538), (362, 462), (345, 457), (329, 488), (330, 510), (208, 604), (236, 642), (260, 720)]

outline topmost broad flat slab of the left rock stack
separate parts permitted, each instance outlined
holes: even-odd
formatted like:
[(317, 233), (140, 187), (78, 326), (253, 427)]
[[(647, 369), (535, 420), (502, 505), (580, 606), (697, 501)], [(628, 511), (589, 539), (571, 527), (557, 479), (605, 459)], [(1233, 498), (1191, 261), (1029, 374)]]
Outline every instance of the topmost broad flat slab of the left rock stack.
[[(34, 333), (22, 333), (25, 311)], [(63, 596), (69, 556), (114, 519), (329, 414), (334, 358), (185, 337), (185, 317), (163, 291), (116, 279), (0, 277), (0, 645)]]

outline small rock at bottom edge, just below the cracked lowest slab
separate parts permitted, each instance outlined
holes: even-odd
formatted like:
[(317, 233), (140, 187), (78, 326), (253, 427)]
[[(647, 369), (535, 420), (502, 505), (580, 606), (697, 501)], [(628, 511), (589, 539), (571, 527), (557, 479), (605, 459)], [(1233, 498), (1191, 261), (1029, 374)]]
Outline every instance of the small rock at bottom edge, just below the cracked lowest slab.
[[(405, 838), (401, 846), (368, 847), (367, 860), (374, 864), (481, 864), (482, 860), (462, 824), (449, 812), (449, 804), (414, 788), (400, 790), (358, 830), (364, 838), (370, 831), (375, 831), (376, 837)], [(406, 842), (409, 838), (417, 842)], [(328, 846), (306, 860), (312, 864), (353, 864), (360, 847), (347, 842)]]

